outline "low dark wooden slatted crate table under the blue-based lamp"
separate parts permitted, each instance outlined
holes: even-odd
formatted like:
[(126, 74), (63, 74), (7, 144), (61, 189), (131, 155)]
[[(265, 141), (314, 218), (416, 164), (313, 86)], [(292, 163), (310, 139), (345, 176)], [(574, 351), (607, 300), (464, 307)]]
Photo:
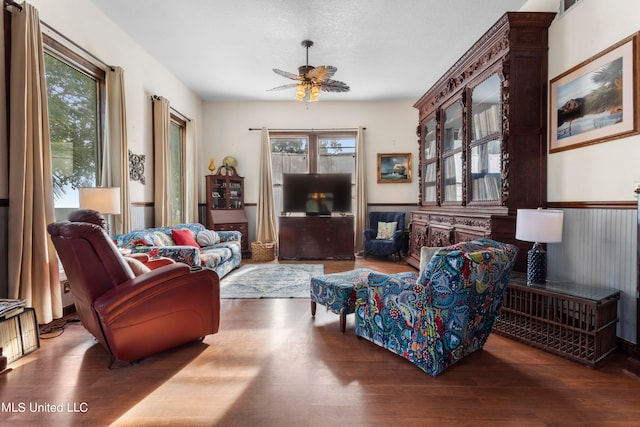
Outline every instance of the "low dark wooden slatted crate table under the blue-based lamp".
[(494, 332), (589, 366), (616, 349), (619, 290), (526, 282), (512, 273)]

